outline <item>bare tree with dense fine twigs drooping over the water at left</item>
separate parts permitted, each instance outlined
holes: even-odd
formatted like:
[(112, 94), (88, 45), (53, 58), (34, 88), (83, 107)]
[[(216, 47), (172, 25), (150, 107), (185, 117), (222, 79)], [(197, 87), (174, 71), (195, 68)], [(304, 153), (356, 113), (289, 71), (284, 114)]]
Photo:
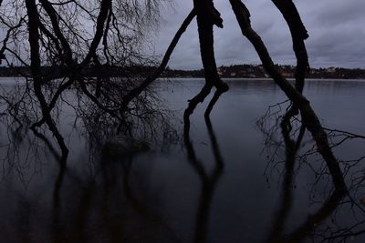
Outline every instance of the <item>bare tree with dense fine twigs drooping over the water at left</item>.
[[(28, 68), (19, 75), (26, 76), (23, 96), (36, 96), (33, 107), (39, 107), (32, 116), (36, 119), (32, 120), (31, 130), (39, 135), (39, 127), (48, 127), (61, 150), (62, 167), (68, 157), (68, 146), (57, 125), (57, 109), (62, 104), (73, 106), (78, 115), (85, 115), (85, 121), (91, 116), (88, 111), (93, 111), (94, 122), (110, 118), (110, 124), (115, 124), (120, 133), (130, 134), (130, 127), (138, 127), (139, 120), (152, 124), (152, 117), (162, 117), (160, 99), (148, 86), (167, 66), (174, 46), (195, 15), (194, 11), (188, 15), (162, 64), (151, 72), (145, 67), (156, 66), (156, 59), (142, 51), (149, 30), (158, 25), (162, 2), (1, 2), (0, 25), (5, 38), (0, 59), (8, 66)], [(119, 75), (111, 77), (114, 66)], [(99, 69), (95, 77), (88, 74), (92, 68)], [(70, 88), (76, 90), (76, 105), (65, 98)], [(9, 96), (2, 99), (9, 106), (16, 104)]]

